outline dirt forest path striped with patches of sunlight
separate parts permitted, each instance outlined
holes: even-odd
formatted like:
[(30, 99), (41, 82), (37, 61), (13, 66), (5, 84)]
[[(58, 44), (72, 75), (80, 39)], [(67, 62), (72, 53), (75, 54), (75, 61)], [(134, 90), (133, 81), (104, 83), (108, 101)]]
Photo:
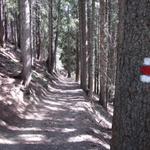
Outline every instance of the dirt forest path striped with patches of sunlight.
[(7, 131), (0, 131), (0, 150), (108, 150), (110, 129), (98, 125), (87, 106), (76, 83), (56, 82), (27, 109), (23, 123), (1, 122)]

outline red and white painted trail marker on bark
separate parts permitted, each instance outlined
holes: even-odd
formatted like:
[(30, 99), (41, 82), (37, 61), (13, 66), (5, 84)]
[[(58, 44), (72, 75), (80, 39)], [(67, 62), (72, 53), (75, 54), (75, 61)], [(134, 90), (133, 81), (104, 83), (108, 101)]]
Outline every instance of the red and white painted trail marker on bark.
[(140, 80), (144, 83), (150, 83), (150, 58), (144, 58), (144, 64), (140, 68)]

